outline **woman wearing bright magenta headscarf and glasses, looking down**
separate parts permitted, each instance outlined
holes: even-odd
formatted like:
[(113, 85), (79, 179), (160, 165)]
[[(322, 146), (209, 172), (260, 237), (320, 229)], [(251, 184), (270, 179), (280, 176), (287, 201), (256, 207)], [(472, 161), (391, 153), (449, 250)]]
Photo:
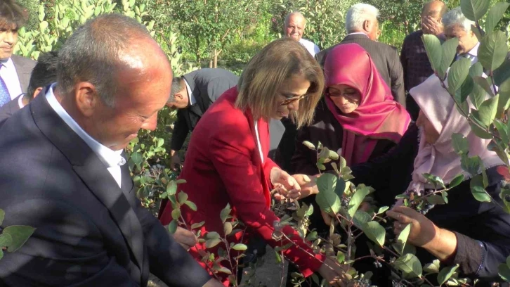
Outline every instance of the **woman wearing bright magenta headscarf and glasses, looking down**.
[[(317, 154), (303, 141), (338, 151), (348, 165), (366, 162), (400, 141), (410, 116), (393, 101), (370, 55), (358, 44), (343, 44), (329, 52), (325, 65), (325, 96), (315, 108), (314, 123), (303, 127), (292, 158), (294, 172), (318, 174)], [(325, 165), (333, 170), (331, 165)], [(306, 190), (302, 190), (306, 196)], [(317, 190), (309, 190), (316, 193)]]

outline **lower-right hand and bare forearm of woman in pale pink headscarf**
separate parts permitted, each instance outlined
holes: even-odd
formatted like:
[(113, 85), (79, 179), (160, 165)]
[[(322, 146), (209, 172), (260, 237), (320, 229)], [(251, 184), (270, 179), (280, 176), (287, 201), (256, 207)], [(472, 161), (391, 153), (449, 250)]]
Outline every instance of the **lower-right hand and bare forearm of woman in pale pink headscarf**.
[(396, 220), (393, 224), (395, 234), (400, 234), (407, 224), (411, 224), (407, 242), (412, 245), (425, 248), (441, 261), (445, 261), (455, 254), (457, 236), (452, 231), (440, 229), (425, 215), (405, 206), (388, 210), (386, 215)]

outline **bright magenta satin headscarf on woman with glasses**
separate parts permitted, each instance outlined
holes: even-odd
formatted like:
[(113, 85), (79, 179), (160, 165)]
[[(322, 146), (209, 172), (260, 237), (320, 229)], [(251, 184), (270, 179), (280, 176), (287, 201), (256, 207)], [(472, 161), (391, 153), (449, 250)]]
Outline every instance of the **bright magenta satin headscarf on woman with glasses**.
[(344, 127), (342, 156), (348, 165), (366, 162), (378, 139), (398, 143), (411, 121), (409, 113), (393, 101), (391, 91), (379, 75), (370, 55), (358, 44), (341, 44), (327, 55), (324, 72), (326, 88), (346, 84), (361, 95), (360, 105), (344, 115), (331, 98), (327, 107)]

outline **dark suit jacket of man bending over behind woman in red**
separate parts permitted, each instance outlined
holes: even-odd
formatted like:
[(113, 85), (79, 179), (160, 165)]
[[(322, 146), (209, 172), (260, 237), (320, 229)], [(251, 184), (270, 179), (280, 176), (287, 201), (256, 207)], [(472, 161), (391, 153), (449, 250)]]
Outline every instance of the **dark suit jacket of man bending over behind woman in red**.
[(211, 103), (224, 91), (237, 85), (239, 77), (223, 69), (200, 69), (183, 76), (190, 85), (197, 102), (188, 108), (179, 109), (171, 139), (171, 149), (178, 151), (183, 147), (188, 132), (192, 132)]

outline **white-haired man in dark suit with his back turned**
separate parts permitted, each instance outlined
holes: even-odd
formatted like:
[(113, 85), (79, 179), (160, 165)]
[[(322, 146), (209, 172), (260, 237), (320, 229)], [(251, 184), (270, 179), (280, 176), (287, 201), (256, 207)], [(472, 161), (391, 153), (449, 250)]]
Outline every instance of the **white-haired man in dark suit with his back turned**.
[[(377, 42), (380, 32), (378, 16), (379, 9), (369, 4), (355, 4), (349, 8), (346, 14), (347, 36), (336, 45), (355, 43), (367, 50), (379, 74), (390, 87), (395, 101), (405, 106), (402, 64), (395, 47)], [(321, 67), (324, 67), (327, 53), (336, 45), (315, 55)]]

